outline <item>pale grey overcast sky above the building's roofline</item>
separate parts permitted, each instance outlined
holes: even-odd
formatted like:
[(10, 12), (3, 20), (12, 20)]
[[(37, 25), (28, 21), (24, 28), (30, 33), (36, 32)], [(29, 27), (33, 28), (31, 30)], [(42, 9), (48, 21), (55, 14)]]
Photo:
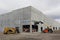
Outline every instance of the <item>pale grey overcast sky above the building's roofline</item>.
[(0, 14), (27, 6), (33, 6), (60, 22), (60, 0), (0, 0)]

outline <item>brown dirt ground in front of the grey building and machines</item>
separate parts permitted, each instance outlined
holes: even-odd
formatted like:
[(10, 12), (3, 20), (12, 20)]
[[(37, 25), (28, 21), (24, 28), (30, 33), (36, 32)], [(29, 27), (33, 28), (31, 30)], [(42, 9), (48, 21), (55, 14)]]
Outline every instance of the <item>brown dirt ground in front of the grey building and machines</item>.
[(0, 40), (60, 40), (60, 34), (55, 33), (0, 33)]

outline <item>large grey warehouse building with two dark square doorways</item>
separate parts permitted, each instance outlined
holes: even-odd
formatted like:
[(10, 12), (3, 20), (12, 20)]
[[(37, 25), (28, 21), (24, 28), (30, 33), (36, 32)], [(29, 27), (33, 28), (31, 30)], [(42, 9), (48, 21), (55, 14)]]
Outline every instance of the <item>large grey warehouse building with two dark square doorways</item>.
[(4, 27), (19, 27), (20, 32), (41, 32), (49, 26), (53, 30), (59, 30), (60, 28), (58, 22), (32, 6), (0, 15), (0, 28), (3, 29)]

